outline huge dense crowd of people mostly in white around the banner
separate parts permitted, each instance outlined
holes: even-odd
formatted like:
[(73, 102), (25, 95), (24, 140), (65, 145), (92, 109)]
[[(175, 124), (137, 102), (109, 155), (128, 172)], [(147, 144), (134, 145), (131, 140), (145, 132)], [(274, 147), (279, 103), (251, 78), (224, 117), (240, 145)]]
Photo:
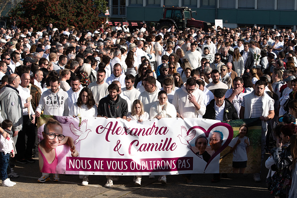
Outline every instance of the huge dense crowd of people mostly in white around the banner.
[[(33, 163), (38, 149), (46, 146), (41, 142), (38, 146), (37, 141), (35, 118), (42, 113), (138, 122), (170, 117), (220, 121), (258, 117), (262, 121), (262, 164), (268, 164), (263, 161), (265, 152), (271, 153), (269, 191), (274, 196), (297, 196), (295, 36), (297, 32), (291, 29), (261, 27), (155, 30), (143, 24), (140, 30), (129, 31), (118, 24), (89, 32), (57, 29), (52, 24), (20, 30), (14, 23), (1, 28), (2, 185), (11, 186), (7, 179), (18, 177), (6, 160), (7, 153), (13, 156), (16, 151), (16, 163)], [(9, 121), (12, 124), (7, 125)], [(49, 129), (43, 137), (59, 144), (63, 135)], [(244, 173), (250, 144), (247, 130), (246, 125), (240, 127), (239, 136), (229, 145), (233, 172)], [(204, 146), (213, 145), (214, 139), (197, 138), (196, 154), (208, 159)], [(245, 157), (239, 156), (242, 152)], [(106, 187), (118, 179), (106, 177)], [(212, 182), (219, 177), (215, 174)], [(284, 177), (290, 182), (284, 183)], [(82, 185), (87, 185), (88, 176), (81, 178)], [(261, 181), (260, 173), (253, 178)], [(38, 181), (47, 180), (45, 171)], [(159, 181), (166, 183), (166, 176), (161, 175)], [(186, 181), (192, 183), (190, 175)], [(141, 176), (135, 176), (134, 182), (140, 185)]]

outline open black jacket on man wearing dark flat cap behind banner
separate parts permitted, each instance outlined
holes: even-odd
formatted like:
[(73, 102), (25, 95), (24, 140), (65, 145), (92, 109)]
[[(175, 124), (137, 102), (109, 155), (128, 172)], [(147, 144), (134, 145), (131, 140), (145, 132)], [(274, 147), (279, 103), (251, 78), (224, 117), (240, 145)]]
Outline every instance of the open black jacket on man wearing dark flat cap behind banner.
[[(230, 103), (230, 101), (228, 101), (227, 99), (225, 99), (224, 101), (225, 101), (224, 115), (223, 115), (223, 120), (221, 121), (239, 119), (237, 116), (237, 111), (235, 107), (232, 105), (232, 103)], [(206, 110), (205, 110), (205, 114), (203, 115), (203, 118), (215, 120), (214, 102), (215, 100), (212, 99), (209, 102), (209, 104), (206, 106)]]

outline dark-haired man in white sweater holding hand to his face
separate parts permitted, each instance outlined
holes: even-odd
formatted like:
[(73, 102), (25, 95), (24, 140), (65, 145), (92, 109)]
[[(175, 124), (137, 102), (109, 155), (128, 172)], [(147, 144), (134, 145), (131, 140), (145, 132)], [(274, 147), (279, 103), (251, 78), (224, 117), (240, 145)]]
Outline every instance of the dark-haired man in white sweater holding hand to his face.
[(204, 94), (196, 87), (196, 80), (188, 78), (183, 86), (174, 93), (172, 104), (177, 111), (177, 117), (197, 118), (204, 115)]

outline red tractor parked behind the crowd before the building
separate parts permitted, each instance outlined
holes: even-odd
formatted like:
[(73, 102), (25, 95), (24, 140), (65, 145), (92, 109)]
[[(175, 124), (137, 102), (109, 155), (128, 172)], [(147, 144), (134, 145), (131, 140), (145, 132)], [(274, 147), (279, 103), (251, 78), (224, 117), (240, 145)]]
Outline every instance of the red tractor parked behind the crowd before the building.
[(192, 18), (192, 11), (187, 7), (168, 7), (164, 8), (163, 19), (160, 19), (156, 24), (156, 28), (170, 28), (174, 26), (177, 30), (185, 28), (202, 28), (206, 31), (211, 27), (208, 22), (198, 21)]

